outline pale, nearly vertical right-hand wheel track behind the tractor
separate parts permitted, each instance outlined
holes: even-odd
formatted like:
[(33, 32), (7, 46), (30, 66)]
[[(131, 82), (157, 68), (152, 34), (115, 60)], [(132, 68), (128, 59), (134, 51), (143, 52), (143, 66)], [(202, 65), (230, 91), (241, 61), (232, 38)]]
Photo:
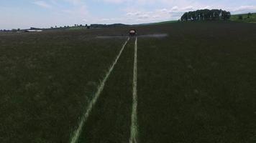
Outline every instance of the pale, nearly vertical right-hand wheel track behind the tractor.
[(133, 83), (132, 83), (132, 124), (129, 143), (137, 143), (137, 37), (134, 44), (134, 66), (133, 66)]

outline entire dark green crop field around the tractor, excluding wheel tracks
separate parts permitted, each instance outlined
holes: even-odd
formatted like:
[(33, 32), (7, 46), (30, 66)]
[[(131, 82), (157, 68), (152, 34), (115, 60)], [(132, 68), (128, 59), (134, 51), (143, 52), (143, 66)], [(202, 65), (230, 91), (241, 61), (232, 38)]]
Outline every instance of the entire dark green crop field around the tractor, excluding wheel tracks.
[[(228, 21), (0, 34), (1, 142), (69, 143), (127, 40), (118, 35), (132, 28), (137, 142), (256, 142), (256, 25)], [(129, 142), (134, 43), (106, 79), (79, 143)]]

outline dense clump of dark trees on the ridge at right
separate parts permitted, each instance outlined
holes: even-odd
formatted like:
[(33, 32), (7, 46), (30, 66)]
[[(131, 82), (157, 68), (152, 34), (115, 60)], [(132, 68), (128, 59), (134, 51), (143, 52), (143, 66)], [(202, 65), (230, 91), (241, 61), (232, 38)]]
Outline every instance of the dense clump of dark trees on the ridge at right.
[(230, 19), (229, 11), (221, 9), (200, 9), (197, 11), (188, 11), (181, 16), (181, 21), (206, 21), (206, 20), (227, 20)]

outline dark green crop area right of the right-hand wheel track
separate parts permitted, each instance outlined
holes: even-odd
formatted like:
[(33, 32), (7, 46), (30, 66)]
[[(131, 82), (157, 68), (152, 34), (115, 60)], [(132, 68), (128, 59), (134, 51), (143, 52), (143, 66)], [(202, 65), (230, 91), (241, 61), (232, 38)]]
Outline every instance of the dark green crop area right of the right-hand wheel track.
[(255, 142), (256, 26), (161, 29), (168, 38), (138, 43), (140, 142)]

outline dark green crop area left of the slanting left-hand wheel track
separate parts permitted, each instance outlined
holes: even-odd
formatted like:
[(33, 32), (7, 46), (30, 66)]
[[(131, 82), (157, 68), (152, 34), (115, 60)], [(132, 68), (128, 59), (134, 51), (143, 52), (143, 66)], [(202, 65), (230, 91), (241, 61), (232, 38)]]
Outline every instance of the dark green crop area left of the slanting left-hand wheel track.
[(1, 142), (67, 142), (122, 41), (84, 31), (1, 36)]

